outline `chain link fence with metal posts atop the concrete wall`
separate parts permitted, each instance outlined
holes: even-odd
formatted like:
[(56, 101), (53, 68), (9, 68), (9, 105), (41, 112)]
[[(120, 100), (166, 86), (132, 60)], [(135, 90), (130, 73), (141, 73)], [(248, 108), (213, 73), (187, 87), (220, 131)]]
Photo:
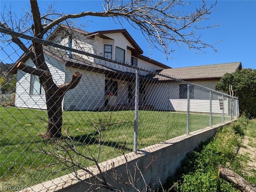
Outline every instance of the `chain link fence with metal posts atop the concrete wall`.
[[(17, 68), (17, 63), (34, 64), (9, 41), (11, 32), (1, 32), (1, 51), (7, 55), (1, 56), (1, 62), (16, 63), (9, 73), (1, 73), (2, 190), (22, 190), (73, 171), (54, 154), (70, 155), (88, 167), (94, 165), (93, 160), (136, 153), (238, 117), (236, 97), (82, 49), (15, 34), (25, 45), (43, 44), (56, 85), (68, 83), (76, 71), (82, 74), (78, 85), (62, 99), (62, 138), (42, 139), (49, 123), (45, 90), (37, 75)], [(17, 62), (12, 59), (16, 54), (20, 56)], [(64, 150), (69, 145), (80, 156)]]

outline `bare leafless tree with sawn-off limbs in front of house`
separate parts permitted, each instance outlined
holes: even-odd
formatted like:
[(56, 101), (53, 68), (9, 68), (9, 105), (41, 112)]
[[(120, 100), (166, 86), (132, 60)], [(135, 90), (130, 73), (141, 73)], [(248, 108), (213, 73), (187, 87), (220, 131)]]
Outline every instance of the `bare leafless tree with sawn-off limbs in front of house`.
[[(207, 20), (208, 16), (214, 11), (216, 2), (208, 5), (206, 0), (202, 0), (200, 7), (191, 13), (185, 13), (176, 11), (182, 10), (182, 7), (187, 5), (186, 2), (180, 0), (104, 0), (102, 3), (104, 7), (103, 12), (59, 14), (47, 11), (43, 16), (39, 12), (36, 0), (30, 0), (30, 5), (32, 15), (27, 12), (19, 20), (12, 18), (10, 13), (8, 13), (7, 17), (2, 15), (0, 27), (9, 30), (18, 30), (23, 33), (32, 32), (34, 37), (43, 40), (52, 29), (67, 20), (86, 16), (111, 17), (121, 25), (126, 21), (140, 30), (148, 39), (150, 46), (160, 49), (166, 56), (174, 51), (172, 44), (185, 46), (195, 52), (204, 51), (204, 48), (207, 47), (216, 51), (214, 44), (202, 42), (200, 40), (201, 35), (197, 34), (200, 29), (215, 27), (200, 26), (200, 24), (203, 20)], [(33, 25), (28, 28), (26, 22), (28, 22), (30, 16), (32, 17)], [(9, 22), (6, 18), (8, 18)], [(27, 28), (21, 30), (22, 26)], [(76, 72), (73, 74), (70, 82), (63, 85), (56, 85), (46, 65), (42, 44), (33, 42), (32, 47), (28, 48), (16, 36), (12, 36), (10, 40), (17, 44), (32, 59), (36, 66), (34, 68), (18, 63), (18, 69), (26, 73), (39, 75), (40, 84), (44, 87), (48, 112), (48, 127), (44, 138), (61, 137), (62, 99), (66, 91), (76, 87), (81, 79), (81, 74)]]

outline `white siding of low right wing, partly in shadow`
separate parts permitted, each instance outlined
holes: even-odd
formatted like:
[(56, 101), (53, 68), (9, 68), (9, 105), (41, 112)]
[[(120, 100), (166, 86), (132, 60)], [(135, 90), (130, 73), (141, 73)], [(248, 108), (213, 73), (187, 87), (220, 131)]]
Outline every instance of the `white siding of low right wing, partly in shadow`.
[[(180, 99), (179, 85), (182, 83), (154, 83), (146, 89), (146, 104), (157, 110), (187, 111), (187, 99)], [(224, 113), (229, 113), (228, 100), (224, 101)], [(210, 112), (210, 91), (194, 85), (193, 97), (190, 99), (190, 111)], [(218, 95), (212, 97), (212, 113), (222, 113)]]

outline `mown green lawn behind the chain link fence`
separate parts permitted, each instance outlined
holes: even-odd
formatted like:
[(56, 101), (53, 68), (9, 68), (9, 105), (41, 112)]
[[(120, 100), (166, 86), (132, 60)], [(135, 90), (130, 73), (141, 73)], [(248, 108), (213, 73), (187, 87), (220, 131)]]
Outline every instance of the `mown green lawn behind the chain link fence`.
[[(186, 118), (185, 113), (139, 111), (138, 148), (186, 134)], [(222, 121), (221, 116), (212, 119), (213, 125)], [(191, 131), (209, 126), (208, 115), (191, 114), (190, 120)], [(112, 124), (104, 131), (100, 162), (133, 150), (134, 111), (65, 111), (62, 133), (70, 136), (77, 150), (87, 156), (98, 152), (99, 135), (92, 123), (98, 127)], [(63, 164), (54, 164), (54, 157), (35, 152), (59, 151), (54, 139), (41, 138), (46, 127), (45, 111), (0, 107), (0, 186), (32, 186), (69, 173)], [(81, 162), (83, 166), (92, 165), (89, 160)]]

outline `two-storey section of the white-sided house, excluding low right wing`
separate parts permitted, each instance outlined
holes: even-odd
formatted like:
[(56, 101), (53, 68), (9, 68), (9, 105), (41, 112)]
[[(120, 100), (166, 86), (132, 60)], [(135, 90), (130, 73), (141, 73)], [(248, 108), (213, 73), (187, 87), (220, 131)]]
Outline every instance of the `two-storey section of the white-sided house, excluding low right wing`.
[[(60, 26), (48, 41), (106, 58), (104, 61), (81, 53), (43, 46), (45, 61), (57, 85), (70, 81), (75, 71), (82, 73), (78, 86), (66, 92), (63, 110), (95, 110), (106, 106), (132, 105), (135, 79), (129, 74), (135, 70), (129, 66), (151, 71), (170, 68), (143, 56), (142, 49), (125, 29), (87, 33)], [(125, 63), (128, 67), (107, 59)], [(27, 55), (22, 55), (16, 63), (19, 62), (34, 67)], [(15, 106), (46, 109), (44, 89), (38, 77), (17, 71), (15, 67), (12, 72), (17, 73)]]

